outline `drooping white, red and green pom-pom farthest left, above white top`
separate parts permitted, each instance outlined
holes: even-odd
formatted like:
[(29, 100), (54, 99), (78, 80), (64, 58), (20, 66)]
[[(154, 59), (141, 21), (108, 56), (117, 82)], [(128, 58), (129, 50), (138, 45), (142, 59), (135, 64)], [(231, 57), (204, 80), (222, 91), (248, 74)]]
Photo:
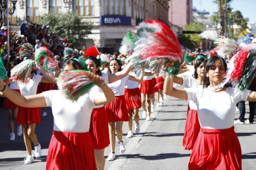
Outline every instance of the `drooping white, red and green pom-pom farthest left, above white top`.
[(24, 60), (11, 70), (11, 78), (16, 82), (28, 83), (34, 63), (31, 60)]

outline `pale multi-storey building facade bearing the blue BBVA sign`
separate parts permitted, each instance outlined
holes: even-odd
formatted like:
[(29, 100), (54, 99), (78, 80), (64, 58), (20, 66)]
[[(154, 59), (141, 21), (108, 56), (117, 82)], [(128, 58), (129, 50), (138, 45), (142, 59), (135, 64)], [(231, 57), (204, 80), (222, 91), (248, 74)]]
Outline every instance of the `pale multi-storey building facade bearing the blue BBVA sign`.
[(127, 31), (144, 19), (157, 18), (168, 23), (169, 8), (168, 0), (18, 0), (16, 6), (10, 22), (18, 25), (23, 20), (38, 23), (40, 16), (50, 12), (77, 13), (94, 25), (81, 46), (94, 45), (106, 53), (118, 52)]

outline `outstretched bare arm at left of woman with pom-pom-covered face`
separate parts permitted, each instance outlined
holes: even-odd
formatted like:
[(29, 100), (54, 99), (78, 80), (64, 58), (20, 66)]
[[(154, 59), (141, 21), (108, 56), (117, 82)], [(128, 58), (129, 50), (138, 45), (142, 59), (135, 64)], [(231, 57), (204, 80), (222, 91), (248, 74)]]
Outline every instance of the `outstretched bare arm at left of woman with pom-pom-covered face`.
[(42, 93), (37, 95), (22, 96), (20, 93), (9, 89), (8, 85), (4, 85), (2, 81), (0, 81), (0, 91), (2, 91), (0, 92), (0, 95), (5, 95), (5, 97), (9, 98), (9, 100), (14, 102), (16, 105), (27, 108), (47, 107)]

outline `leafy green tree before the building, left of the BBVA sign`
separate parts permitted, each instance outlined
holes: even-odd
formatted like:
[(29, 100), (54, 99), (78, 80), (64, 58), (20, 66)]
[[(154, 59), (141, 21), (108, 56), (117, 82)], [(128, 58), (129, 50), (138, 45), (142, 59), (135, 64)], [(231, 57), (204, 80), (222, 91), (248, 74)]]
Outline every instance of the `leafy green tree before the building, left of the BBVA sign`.
[(73, 12), (54, 15), (43, 15), (39, 19), (40, 25), (49, 25), (51, 31), (58, 36), (67, 38), (69, 44), (78, 43), (78, 40), (91, 34), (91, 22), (82, 22), (81, 17)]

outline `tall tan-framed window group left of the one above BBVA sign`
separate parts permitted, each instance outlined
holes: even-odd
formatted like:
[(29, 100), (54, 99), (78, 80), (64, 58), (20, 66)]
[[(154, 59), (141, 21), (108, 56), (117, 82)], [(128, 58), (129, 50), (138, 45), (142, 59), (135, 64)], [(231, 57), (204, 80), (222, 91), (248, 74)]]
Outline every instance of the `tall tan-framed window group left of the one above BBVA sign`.
[(73, 0), (73, 10), (78, 15), (94, 15), (94, 0)]

